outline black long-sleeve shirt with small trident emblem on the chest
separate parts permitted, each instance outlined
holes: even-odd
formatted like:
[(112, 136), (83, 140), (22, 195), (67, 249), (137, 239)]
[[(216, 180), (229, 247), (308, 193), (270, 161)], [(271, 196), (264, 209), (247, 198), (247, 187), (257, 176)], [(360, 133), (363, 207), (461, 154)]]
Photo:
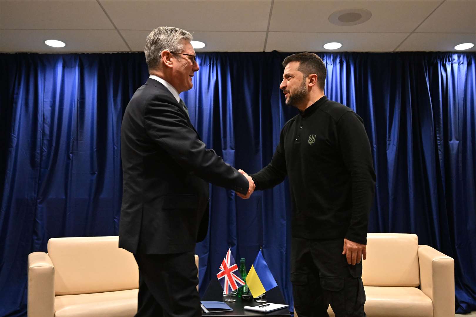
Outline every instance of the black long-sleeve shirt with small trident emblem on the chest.
[(375, 172), (362, 119), (326, 96), (289, 120), (266, 167), (250, 175), (257, 190), (289, 176), (292, 236), (367, 244)]

